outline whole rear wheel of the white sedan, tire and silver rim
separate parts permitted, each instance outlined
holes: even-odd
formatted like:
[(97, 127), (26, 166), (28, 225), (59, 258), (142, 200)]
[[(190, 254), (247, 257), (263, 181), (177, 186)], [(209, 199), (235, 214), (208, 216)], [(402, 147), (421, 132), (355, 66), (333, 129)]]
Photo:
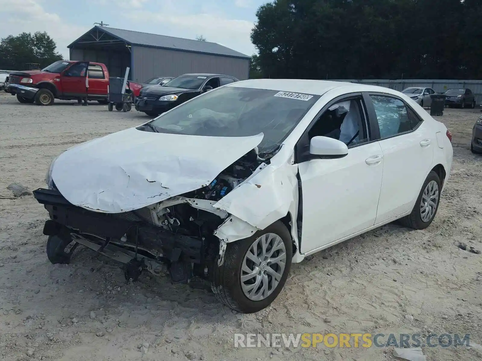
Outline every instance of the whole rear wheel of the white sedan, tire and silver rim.
[(440, 178), (433, 170), (428, 173), (418, 194), (412, 213), (399, 219), (399, 223), (415, 230), (423, 230), (432, 223), (440, 204)]

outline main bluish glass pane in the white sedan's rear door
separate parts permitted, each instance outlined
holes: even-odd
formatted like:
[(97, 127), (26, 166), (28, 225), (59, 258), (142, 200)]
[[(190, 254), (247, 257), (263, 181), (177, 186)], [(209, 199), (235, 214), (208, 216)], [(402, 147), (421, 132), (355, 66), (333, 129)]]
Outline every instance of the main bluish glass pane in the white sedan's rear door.
[(370, 98), (375, 107), (381, 139), (412, 130), (407, 108), (400, 99), (383, 95), (370, 95)]

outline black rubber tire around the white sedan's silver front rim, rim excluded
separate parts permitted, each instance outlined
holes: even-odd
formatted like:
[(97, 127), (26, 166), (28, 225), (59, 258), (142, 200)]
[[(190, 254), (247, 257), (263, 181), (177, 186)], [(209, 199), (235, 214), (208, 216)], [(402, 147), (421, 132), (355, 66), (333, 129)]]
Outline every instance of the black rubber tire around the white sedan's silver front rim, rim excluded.
[[(242, 291), (241, 266), (244, 256), (254, 241), (266, 233), (275, 233), (283, 240), (286, 249), (286, 265), (281, 275), (280, 283), (273, 292), (263, 300), (253, 301), (246, 297)], [(230, 309), (242, 313), (258, 312), (268, 307), (281, 292), (291, 269), (292, 258), (293, 245), (291, 234), (281, 221), (276, 221), (263, 231), (254, 233), (251, 237), (228, 244), (224, 255), (224, 263), (218, 266), (218, 258), (214, 260), (211, 289), (216, 298)]]

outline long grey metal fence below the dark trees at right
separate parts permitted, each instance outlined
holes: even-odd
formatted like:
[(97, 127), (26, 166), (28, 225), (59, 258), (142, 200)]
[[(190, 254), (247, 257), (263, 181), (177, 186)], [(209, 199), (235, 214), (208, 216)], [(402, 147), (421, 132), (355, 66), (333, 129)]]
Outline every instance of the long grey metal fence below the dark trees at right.
[(464, 89), (469, 88), (475, 94), (475, 102), (482, 104), (482, 80), (446, 80), (446, 79), (336, 79), (335, 81), (347, 81), (350, 83), (360, 83), (368, 85), (377, 85), (380, 87), (390, 88), (402, 91), (408, 87), (427, 87), (443, 93), (447, 89)]

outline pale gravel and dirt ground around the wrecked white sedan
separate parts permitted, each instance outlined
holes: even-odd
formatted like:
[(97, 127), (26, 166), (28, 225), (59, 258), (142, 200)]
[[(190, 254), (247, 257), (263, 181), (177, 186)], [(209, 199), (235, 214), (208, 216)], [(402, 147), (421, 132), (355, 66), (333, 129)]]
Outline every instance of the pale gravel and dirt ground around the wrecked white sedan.
[[(85, 248), (71, 264), (52, 265), (46, 210), (32, 195), (8, 199), (6, 187), (43, 187), (54, 156), (148, 117), (96, 103), (20, 104), (1, 93), (0, 360), (395, 360), (393, 347), (234, 348), (236, 332), (447, 332), (482, 344), (482, 255), (457, 247), (482, 250), (482, 156), (469, 148), (480, 114), (446, 109), (439, 118), (454, 135), (454, 163), (428, 229), (389, 224), (308, 257), (268, 309), (241, 315), (167, 277), (143, 273), (126, 284), (117, 265)], [(424, 353), (430, 361), (480, 360), (482, 347)]]

